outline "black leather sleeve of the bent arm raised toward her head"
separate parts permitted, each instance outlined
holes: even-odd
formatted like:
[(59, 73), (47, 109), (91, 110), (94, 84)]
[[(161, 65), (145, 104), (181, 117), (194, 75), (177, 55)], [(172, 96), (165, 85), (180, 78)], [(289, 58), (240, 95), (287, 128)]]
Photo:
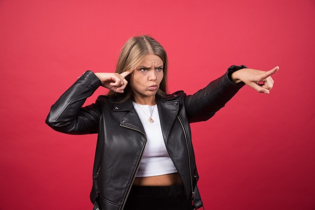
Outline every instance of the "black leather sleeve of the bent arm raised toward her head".
[(97, 104), (82, 106), (100, 85), (101, 81), (92, 71), (85, 72), (53, 104), (46, 124), (67, 134), (97, 133), (100, 116)]

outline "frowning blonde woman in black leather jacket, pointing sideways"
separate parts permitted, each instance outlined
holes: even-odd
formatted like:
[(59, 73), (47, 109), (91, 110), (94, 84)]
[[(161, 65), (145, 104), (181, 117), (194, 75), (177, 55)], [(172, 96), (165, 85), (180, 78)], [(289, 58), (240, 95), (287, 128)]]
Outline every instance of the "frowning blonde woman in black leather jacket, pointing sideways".
[[(268, 94), (278, 69), (231, 66), (193, 95), (167, 94), (164, 48), (149, 36), (133, 37), (115, 73), (87, 71), (51, 107), (46, 123), (68, 134), (98, 133), (95, 209), (197, 209), (202, 201), (189, 123), (211, 118), (244, 84)], [(99, 86), (110, 92), (82, 108)]]

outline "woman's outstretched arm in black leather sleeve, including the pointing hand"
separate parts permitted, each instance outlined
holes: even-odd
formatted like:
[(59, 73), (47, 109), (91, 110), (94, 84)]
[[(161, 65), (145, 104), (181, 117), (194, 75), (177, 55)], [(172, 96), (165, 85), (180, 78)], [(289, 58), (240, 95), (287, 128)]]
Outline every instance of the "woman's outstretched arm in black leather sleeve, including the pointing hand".
[(210, 82), (205, 88), (186, 98), (186, 112), (190, 122), (206, 121), (224, 107), (245, 84), (259, 92), (269, 93), (273, 80), (270, 77), (279, 68), (270, 71), (231, 66), (226, 74)]

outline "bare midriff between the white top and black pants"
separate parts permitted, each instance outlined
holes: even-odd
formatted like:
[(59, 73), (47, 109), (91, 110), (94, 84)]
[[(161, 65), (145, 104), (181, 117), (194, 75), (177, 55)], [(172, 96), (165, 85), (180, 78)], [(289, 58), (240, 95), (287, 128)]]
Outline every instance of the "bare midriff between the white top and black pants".
[(173, 186), (182, 184), (178, 173), (170, 173), (159, 176), (136, 177), (133, 185), (136, 186)]

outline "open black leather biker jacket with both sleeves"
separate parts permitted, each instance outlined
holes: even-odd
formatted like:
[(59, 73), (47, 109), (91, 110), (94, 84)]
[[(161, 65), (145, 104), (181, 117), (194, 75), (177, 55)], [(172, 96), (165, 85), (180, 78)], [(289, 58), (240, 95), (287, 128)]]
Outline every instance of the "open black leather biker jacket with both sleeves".
[[(156, 96), (167, 150), (182, 179), (187, 198), (202, 206), (197, 189), (198, 173), (189, 123), (205, 121), (244, 85), (235, 85), (228, 75), (245, 66), (231, 66), (222, 77), (193, 95), (178, 91)], [(81, 76), (53, 104), (46, 123), (67, 134), (98, 133), (91, 201), (100, 209), (123, 209), (146, 145), (146, 134), (131, 99), (117, 103), (99, 96), (82, 108), (87, 97), (101, 85), (92, 71)]]

